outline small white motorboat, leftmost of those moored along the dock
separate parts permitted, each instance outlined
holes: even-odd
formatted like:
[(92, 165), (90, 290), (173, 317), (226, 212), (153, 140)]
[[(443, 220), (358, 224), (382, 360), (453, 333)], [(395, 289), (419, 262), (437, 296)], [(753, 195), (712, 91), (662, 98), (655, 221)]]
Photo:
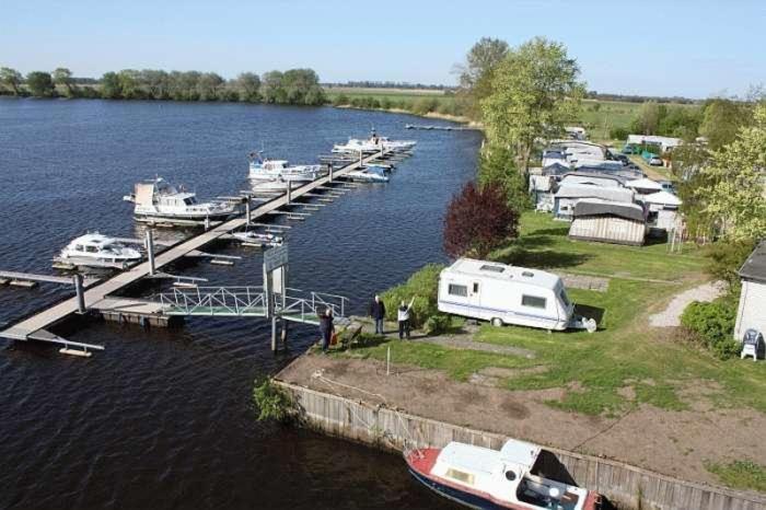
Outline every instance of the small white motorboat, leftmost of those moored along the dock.
[(141, 260), (141, 253), (114, 237), (94, 232), (77, 237), (54, 260), (72, 266), (124, 269), (129, 264)]

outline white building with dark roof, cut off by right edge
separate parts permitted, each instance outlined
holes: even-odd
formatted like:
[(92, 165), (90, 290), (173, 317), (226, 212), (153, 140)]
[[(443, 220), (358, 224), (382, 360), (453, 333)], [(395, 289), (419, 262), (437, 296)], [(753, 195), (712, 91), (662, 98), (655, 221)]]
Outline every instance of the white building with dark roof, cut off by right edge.
[(766, 240), (761, 241), (742, 265), (740, 278), (742, 293), (734, 338), (742, 341), (747, 329), (756, 329), (766, 337)]

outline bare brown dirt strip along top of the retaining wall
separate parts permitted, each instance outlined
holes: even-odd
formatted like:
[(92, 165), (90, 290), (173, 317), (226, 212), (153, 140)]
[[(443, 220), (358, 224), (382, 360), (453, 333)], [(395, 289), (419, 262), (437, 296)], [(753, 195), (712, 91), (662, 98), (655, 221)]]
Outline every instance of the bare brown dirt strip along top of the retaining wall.
[[(317, 370), (340, 384), (316, 378)], [(670, 412), (640, 405), (622, 417), (604, 418), (545, 404), (562, 398), (568, 389), (511, 392), (491, 384), (491, 373), (485, 375), (490, 379), (456, 382), (440, 371), (405, 366), (395, 366), (386, 375), (385, 364), (379, 361), (306, 355), (278, 378), (373, 405), (385, 404), (418, 416), (603, 455), (694, 482), (717, 483), (705, 468), (706, 461), (746, 457), (766, 462), (766, 442), (753, 440), (766, 429), (766, 416), (752, 409), (718, 408), (698, 389), (689, 389), (697, 398), (692, 410)], [(631, 393), (632, 387), (626, 386), (625, 394)]]

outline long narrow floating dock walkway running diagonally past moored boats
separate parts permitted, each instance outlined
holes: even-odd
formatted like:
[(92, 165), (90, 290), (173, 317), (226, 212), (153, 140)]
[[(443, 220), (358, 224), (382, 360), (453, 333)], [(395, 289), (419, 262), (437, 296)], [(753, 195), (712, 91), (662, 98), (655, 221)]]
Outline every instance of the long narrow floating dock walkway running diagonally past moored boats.
[[(120, 308), (125, 311), (136, 310), (136, 306), (140, 308), (141, 311), (147, 313), (156, 313), (160, 309), (158, 305), (150, 305), (146, 302), (140, 302), (140, 300), (130, 300), (115, 298), (113, 294), (119, 290), (141, 280), (146, 277), (152, 277), (156, 275), (156, 271), (182, 258), (185, 256), (199, 256), (204, 254), (201, 248), (225, 235), (231, 231), (252, 224), (254, 220), (266, 217), (267, 215), (272, 215), (279, 209), (289, 206), (299, 205), (294, 202), (295, 199), (306, 196), (310, 198), (313, 193), (327, 189), (327, 187), (333, 184), (335, 178), (343, 177), (346, 173), (357, 170), (359, 166), (367, 164), (373, 160), (385, 158), (390, 151), (381, 151), (379, 153), (371, 154), (362, 160), (358, 160), (350, 163), (341, 169), (333, 169), (330, 166), (327, 175), (318, 177), (311, 183), (306, 183), (303, 186), (297, 188), (289, 188), (287, 193), (272, 198), (264, 204), (258, 205), (255, 209), (251, 208), (249, 199), (251, 197), (243, 197), (246, 201), (246, 212), (244, 215), (239, 215), (237, 217), (228, 220), (225, 222), (219, 223), (211, 228), (210, 230), (195, 235), (186, 241), (183, 241), (174, 246), (169, 247), (162, 253), (156, 255), (150, 255), (149, 260), (138, 264), (127, 270), (116, 274), (112, 278), (100, 282), (88, 282), (92, 283), (90, 287), (85, 288), (83, 285), (78, 295), (54, 304), (46, 308), (33, 315), (23, 318), (8, 327), (0, 331), (0, 337), (12, 339), (12, 340), (37, 340), (37, 341), (49, 341), (55, 344), (63, 344), (65, 348), (69, 345), (85, 347), (85, 348), (98, 348), (100, 346), (91, 346), (85, 344), (79, 344), (76, 341), (68, 341), (60, 338), (47, 331), (47, 328), (56, 325), (57, 323), (66, 320), (72, 314), (84, 313), (88, 310), (104, 310), (104, 311), (115, 311)], [(252, 210), (251, 210), (252, 209)], [(304, 218), (297, 212), (289, 213), (290, 218)], [(204, 254), (208, 255), (208, 254)], [(223, 258), (223, 257), (219, 257)], [(14, 278), (20, 274), (3, 273), (2, 277)], [(42, 277), (36, 280), (28, 278), (30, 275), (25, 275), (27, 281), (54, 281), (57, 283), (72, 283), (74, 282), (72, 278), (63, 277)], [(43, 279), (45, 278), (45, 279)], [(77, 282), (74, 282), (77, 286)]]

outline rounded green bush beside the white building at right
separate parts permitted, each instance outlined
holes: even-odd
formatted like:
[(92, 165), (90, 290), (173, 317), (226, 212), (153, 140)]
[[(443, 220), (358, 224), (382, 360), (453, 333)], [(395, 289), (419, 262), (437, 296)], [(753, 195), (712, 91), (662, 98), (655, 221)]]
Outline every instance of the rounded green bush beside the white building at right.
[(740, 352), (740, 344), (732, 337), (735, 316), (735, 303), (731, 300), (694, 301), (681, 315), (681, 324), (718, 358), (728, 359)]

